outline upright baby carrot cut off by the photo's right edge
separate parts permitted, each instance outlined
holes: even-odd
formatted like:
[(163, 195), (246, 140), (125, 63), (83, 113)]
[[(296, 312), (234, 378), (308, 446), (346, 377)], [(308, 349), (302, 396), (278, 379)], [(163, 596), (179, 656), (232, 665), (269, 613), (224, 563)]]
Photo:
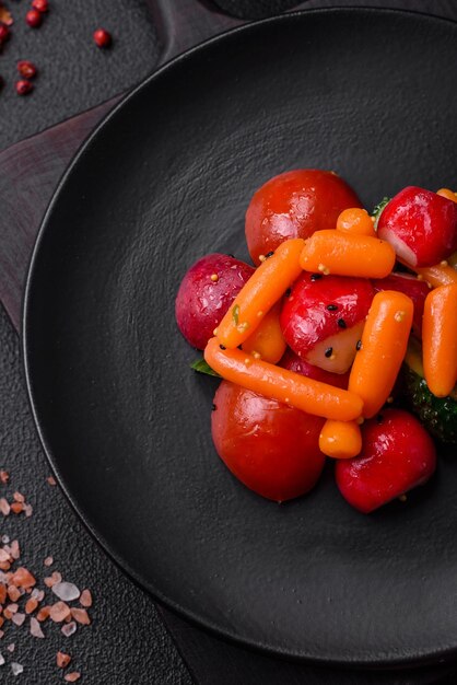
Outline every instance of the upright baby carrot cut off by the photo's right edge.
[(430, 391), (436, 397), (446, 397), (457, 382), (457, 285), (441, 286), (427, 294), (422, 351)]

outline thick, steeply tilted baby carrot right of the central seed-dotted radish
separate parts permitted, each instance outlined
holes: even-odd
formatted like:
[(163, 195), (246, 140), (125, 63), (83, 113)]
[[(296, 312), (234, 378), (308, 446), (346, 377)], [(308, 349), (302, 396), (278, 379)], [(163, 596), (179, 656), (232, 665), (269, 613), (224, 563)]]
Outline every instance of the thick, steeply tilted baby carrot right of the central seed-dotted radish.
[(373, 298), (349, 376), (349, 390), (362, 397), (372, 418), (389, 396), (407, 351), (414, 305), (402, 292), (384, 290)]

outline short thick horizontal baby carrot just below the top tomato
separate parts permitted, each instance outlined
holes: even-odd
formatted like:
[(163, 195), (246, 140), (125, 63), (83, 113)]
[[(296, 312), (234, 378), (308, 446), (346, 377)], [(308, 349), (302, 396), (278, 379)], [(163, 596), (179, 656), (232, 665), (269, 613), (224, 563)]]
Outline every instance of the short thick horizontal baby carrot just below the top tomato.
[(386, 241), (327, 230), (316, 231), (305, 241), (300, 263), (306, 271), (385, 278), (392, 270), (395, 259), (395, 249)]

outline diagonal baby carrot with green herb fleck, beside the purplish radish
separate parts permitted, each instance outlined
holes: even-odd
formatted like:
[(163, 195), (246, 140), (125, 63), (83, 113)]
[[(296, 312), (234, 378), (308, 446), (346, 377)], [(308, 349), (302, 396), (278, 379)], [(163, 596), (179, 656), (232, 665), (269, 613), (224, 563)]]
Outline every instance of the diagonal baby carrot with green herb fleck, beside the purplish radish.
[(216, 335), (222, 345), (233, 349), (253, 334), (302, 272), (300, 254), (304, 244), (301, 237), (281, 243), (257, 268), (218, 326)]

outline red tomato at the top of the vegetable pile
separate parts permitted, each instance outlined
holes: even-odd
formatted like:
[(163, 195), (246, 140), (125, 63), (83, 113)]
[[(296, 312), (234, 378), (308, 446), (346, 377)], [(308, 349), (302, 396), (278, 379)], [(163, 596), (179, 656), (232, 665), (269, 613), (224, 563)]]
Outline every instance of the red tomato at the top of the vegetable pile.
[(267, 181), (246, 212), (246, 241), (254, 264), (290, 237), (335, 229), (343, 209), (362, 207), (353, 189), (333, 172), (298, 169)]

